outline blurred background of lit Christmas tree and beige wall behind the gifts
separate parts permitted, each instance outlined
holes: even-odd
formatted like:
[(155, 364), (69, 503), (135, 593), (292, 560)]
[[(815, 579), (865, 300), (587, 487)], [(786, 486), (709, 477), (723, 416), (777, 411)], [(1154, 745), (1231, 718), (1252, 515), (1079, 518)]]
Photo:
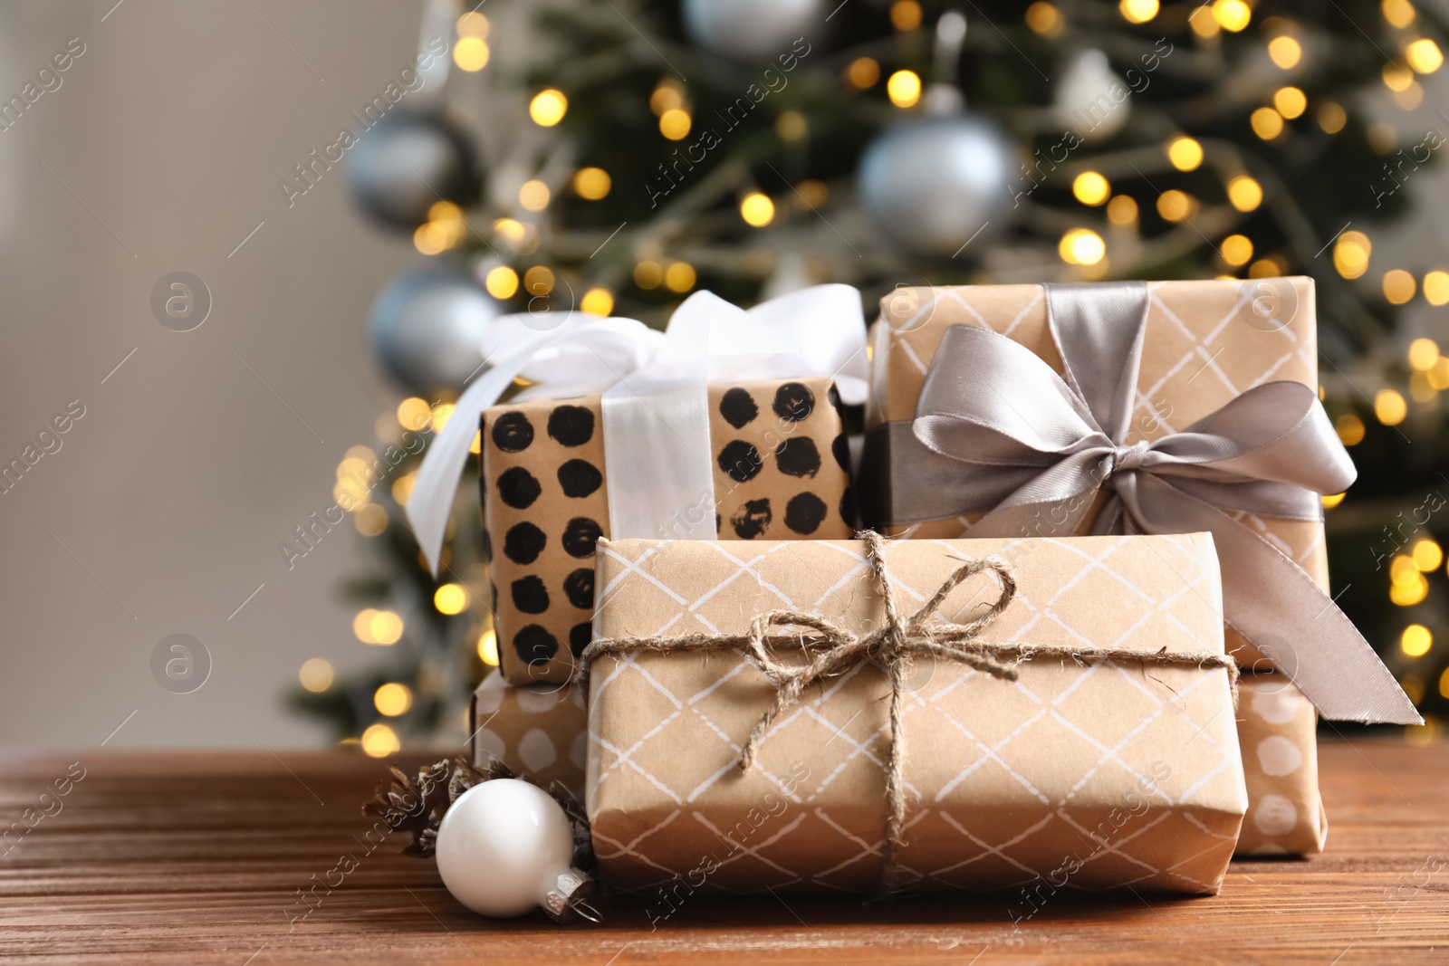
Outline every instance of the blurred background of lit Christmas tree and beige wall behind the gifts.
[(1335, 594), (1435, 740), (1440, 13), (4, 4), (0, 742), (461, 742), (497, 663), (477, 494), (440, 582), (401, 507), (498, 313), (1290, 274), (1361, 474)]

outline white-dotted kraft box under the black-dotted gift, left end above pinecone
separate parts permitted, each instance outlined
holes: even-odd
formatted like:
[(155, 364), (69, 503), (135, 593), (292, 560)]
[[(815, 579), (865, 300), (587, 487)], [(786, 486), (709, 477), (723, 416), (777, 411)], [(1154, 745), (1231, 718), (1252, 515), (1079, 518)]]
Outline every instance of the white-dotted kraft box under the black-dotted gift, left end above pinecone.
[(558, 782), (582, 801), (587, 720), (577, 688), (511, 685), (494, 672), (472, 692), (472, 763), (501, 762), (543, 788)]

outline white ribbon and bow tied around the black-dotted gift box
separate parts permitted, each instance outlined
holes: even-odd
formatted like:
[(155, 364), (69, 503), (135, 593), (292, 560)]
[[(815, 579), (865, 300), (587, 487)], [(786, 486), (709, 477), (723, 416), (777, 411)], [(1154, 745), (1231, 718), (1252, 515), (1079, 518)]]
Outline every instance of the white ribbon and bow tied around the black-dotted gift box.
[(417, 471), (407, 518), (433, 575), (478, 417), (513, 384), (519, 401), (603, 394), (609, 532), (714, 537), (710, 382), (833, 377), (843, 403), (867, 395), (865, 317), (851, 285), (816, 285), (751, 310), (700, 291), (665, 332), (635, 319), (500, 316), (488, 369), (459, 397)]

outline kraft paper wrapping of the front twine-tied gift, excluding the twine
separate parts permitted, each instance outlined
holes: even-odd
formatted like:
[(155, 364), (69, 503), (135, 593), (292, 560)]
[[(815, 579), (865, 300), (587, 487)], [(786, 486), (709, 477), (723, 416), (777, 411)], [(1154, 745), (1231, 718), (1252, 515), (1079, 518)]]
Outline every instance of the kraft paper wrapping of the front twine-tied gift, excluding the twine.
[[(962, 559), (988, 555), (1011, 562), (1017, 582), (981, 631), (988, 644), (1191, 658), (1037, 655), (1017, 681), (917, 658), (900, 736), (904, 888), (1046, 879), (1217, 892), (1248, 801), (1230, 662), (1201, 663), (1223, 655), (1211, 537), (900, 540), (885, 562), (901, 613), (922, 608)], [(856, 540), (606, 542), (598, 585), (596, 650), (610, 639), (743, 634), (780, 608), (852, 633), (884, 620)], [(935, 620), (980, 616), (1000, 594), (995, 578), (975, 575)], [(775, 691), (739, 647), (590, 656), (587, 811), (604, 881), (732, 892), (881, 883), (893, 733), (878, 665), (807, 686), (742, 773), (736, 757)]]

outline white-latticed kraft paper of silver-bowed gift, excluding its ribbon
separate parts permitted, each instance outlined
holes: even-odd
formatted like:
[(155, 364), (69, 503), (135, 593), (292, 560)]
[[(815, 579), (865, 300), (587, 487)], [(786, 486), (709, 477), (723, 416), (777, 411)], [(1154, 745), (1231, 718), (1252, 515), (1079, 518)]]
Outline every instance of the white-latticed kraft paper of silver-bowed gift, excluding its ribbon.
[[(1126, 442), (1161, 439), (1230, 403), (1243, 390), (1266, 381), (1294, 381), (1319, 391), (1319, 346), (1313, 280), (1274, 278), (1279, 301), (1262, 319), (1245, 301), (1237, 281), (1151, 282), (1146, 339), (1137, 377), (1137, 404)], [(1030, 349), (1058, 374), (1062, 359), (1052, 342), (1042, 285), (953, 285), (898, 288), (881, 300), (872, 326), (871, 401), (867, 408), (867, 463), (881, 450), (872, 445), (890, 423), (914, 419), (916, 404), (942, 336), (952, 326), (998, 332)], [(898, 453), (893, 453), (898, 456)], [(862, 463), (864, 465), (864, 463)], [(862, 472), (862, 516), (867, 526), (909, 537), (959, 537), (972, 517), (895, 524), (888, 490), (909, 488), (909, 472), (897, 461), (867, 484)], [(884, 485), (877, 485), (884, 482)], [(1274, 546), (1301, 566), (1324, 589), (1329, 560), (1323, 523), (1240, 514)], [(1252, 668), (1262, 655), (1227, 630), (1229, 653)]]

